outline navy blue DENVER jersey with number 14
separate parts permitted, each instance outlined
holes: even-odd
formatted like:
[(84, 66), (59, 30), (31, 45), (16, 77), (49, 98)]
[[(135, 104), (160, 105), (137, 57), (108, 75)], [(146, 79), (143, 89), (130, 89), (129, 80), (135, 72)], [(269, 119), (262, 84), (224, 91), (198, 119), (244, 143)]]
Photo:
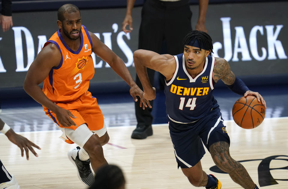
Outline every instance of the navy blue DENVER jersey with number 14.
[(195, 78), (186, 70), (183, 53), (174, 58), (176, 71), (164, 87), (166, 113), (169, 119), (176, 123), (191, 123), (218, 106), (212, 93), (215, 58), (206, 57), (203, 71)]

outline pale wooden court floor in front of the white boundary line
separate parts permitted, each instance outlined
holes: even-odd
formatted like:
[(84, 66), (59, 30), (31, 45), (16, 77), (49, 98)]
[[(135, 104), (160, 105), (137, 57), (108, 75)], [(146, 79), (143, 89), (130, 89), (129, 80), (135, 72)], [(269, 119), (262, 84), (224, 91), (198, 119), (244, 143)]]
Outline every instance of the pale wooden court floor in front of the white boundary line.
[[(261, 188), (284, 189), (288, 186), (287, 123), (288, 117), (265, 118), (259, 127), (244, 130), (233, 121), (224, 122), (231, 140), (231, 156), (242, 161), (258, 186), (264, 183)], [(110, 141), (103, 146), (108, 163), (120, 166), (125, 173), (126, 188), (196, 188), (177, 169), (167, 124), (153, 125), (154, 135), (144, 140), (131, 139), (134, 127), (108, 127)], [(0, 134), (1, 161), (8, 172), (15, 175), (21, 189), (86, 188), (78, 180), (76, 168), (67, 158), (67, 151), (76, 145), (59, 139), (61, 131), (19, 134), (42, 148), (37, 150), (39, 157), (30, 153), (27, 161), (20, 156), (19, 148)], [(208, 151), (201, 163), (207, 174), (215, 175), (222, 182), (222, 189), (241, 188), (229, 175), (209, 170), (214, 163)]]

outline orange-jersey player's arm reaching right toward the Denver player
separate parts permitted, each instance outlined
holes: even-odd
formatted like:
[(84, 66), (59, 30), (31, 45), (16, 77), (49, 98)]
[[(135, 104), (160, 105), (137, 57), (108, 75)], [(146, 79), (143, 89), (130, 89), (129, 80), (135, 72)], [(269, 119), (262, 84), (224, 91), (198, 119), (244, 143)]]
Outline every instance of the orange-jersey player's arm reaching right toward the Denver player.
[(110, 67), (130, 86), (130, 94), (134, 98), (136, 102), (138, 99), (136, 96), (139, 96), (141, 99), (140, 106), (143, 103), (143, 109), (145, 107), (150, 107), (149, 101), (143, 98), (143, 91), (138, 87), (138, 85), (134, 82), (129, 70), (127, 69), (123, 60), (117, 56), (109, 47), (107, 47), (104, 43), (102, 43), (98, 37), (89, 32), (93, 47), (92, 51), (97, 54), (101, 59), (107, 62)]

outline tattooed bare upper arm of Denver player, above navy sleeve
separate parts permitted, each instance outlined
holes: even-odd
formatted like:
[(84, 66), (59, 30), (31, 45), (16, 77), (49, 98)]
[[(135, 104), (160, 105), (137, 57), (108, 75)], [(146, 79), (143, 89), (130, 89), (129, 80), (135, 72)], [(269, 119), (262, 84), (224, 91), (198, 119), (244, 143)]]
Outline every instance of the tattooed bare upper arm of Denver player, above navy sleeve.
[(225, 59), (215, 57), (213, 79), (215, 83), (217, 83), (219, 79), (221, 79), (226, 85), (232, 85), (234, 83), (235, 75), (231, 71), (230, 65)]

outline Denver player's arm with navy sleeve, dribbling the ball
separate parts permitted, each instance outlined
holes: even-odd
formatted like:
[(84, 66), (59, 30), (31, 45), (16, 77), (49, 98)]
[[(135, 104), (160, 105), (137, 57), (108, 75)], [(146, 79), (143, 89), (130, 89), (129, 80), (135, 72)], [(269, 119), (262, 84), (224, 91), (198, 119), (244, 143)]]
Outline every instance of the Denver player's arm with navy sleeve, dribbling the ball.
[(225, 59), (215, 58), (213, 79), (215, 82), (221, 79), (230, 90), (239, 95), (243, 95), (244, 97), (248, 95), (256, 96), (258, 102), (261, 102), (266, 108), (266, 102), (263, 97), (258, 92), (249, 90), (241, 79), (236, 78)]

